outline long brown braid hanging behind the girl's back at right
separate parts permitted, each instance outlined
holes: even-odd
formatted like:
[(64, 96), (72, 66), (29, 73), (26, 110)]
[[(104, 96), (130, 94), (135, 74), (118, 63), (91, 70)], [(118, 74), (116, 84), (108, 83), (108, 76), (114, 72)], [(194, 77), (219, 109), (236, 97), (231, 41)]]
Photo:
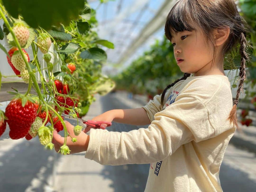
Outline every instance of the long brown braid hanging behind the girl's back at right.
[(230, 122), (234, 123), (234, 125), (236, 125), (236, 127), (238, 127), (237, 124), (237, 115), (236, 115), (236, 111), (237, 111), (237, 104), (238, 104), (238, 98), (240, 96), (240, 92), (243, 89), (243, 81), (246, 78), (246, 70), (245, 70), (245, 63), (246, 60), (248, 60), (248, 55), (246, 53), (246, 35), (245, 32), (242, 32), (240, 35), (240, 55), (241, 55), (241, 67), (240, 72), (239, 72), (239, 76), (240, 76), (240, 82), (239, 82), (239, 86), (238, 86), (238, 90), (237, 90), (237, 96), (236, 96), (236, 100), (233, 101), (233, 108), (229, 114), (229, 120)]

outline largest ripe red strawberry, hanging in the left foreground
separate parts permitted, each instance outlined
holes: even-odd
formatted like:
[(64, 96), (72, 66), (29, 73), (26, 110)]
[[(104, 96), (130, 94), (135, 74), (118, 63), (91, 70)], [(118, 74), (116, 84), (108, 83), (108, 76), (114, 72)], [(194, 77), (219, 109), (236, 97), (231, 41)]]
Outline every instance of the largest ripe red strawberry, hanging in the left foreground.
[(24, 107), (22, 98), (10, 101), (5, 109), (5, 116), (10, 128), (9, 136), (11, 139), (23, 138), (35, 121), (37, 115), (36, 105), (27, 100)]

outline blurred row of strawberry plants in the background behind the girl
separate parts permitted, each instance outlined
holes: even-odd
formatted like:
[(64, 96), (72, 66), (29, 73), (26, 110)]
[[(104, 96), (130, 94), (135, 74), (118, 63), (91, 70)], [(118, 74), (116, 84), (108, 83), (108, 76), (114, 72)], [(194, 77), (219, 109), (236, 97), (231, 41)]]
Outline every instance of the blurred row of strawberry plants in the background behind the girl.
[[(241, 16), (247, 21), (249, 27), (248, 53), (251, 56), (250, 61), (246, 63), (246, 80), (244, 87), (246, 97), (245, 101), (250, 100), (256, 109), (256, 12), (254, 0), (240, 0), (238, 6), (241, 9)], [(224, 70), (237, 70), (237, 75), (231, 80), (231, 88), (237, 88), (239, 81), (239, 67), (241, 65), (241, 57), (239, 54), (239, 45), (225, 56)], [(229, 74), (227, 75), (229, 76)], [(148, 100), (153, 99), (156, 94), (161, 94), (166, 86), (173, 83), (175, 80), (183, 77), (183, 72), (180, 71), (174, 58), (173, 46), (171, 42), (164, 36), (160, 42), (156, 40), (151, 49), (133, 61), (131, 65), (122, 73), (112, 77), (116, 82), (117, 90), (126, 90), (133, 94), (146, 94)], [(248, 109), (242, 111), (241, 123), (247, 126), (251, 125), (252, 120), (246, 118), (249, 114)]]

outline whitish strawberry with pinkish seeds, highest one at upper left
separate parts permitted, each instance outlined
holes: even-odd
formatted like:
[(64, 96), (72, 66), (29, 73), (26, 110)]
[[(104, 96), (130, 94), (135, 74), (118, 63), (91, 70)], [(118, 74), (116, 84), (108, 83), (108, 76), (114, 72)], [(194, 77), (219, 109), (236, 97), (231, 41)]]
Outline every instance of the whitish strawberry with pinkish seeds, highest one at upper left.
[(17, 23), (13, 27), (13, 31), (19, 41), (20, 46), (26, 45), (28, 38), (29, 38), (28, 28), (25, 25), (23, 25), (22, 23)]

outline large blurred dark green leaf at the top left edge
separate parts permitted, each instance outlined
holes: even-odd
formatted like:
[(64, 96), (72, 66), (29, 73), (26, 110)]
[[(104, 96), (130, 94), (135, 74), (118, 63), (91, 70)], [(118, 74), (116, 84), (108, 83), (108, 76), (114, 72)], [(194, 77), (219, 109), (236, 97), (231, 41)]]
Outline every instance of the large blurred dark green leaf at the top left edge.
[(25, 22), (33, 27), (48, 30), (51, 26), (68, 25), (71, 19), (77, 19), (84, 8), (84, 0), (2, 0), (6, 10), (14, 18), (22, 15)]

